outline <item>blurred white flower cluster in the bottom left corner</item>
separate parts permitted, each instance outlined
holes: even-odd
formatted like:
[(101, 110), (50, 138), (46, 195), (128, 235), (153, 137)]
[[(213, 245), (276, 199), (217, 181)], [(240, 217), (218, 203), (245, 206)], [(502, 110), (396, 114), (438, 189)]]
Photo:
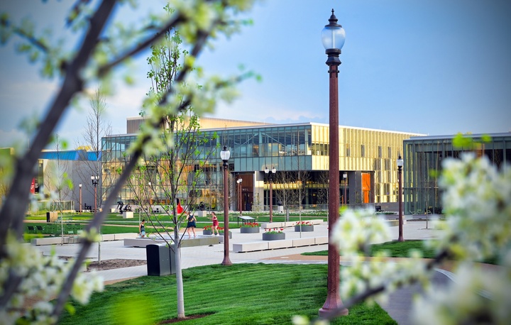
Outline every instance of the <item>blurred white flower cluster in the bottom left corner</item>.
[[(61, 260), (56, 255), (45, 256), (33, 246), (19, 243), (11, 234), (7, 238), (6, 250), (8, 256), (0, 261), (0, 290), (9, 280), (11, 272), (22, 280), (6, 308), (0, 310), (0, 324), (16, 324), (18, 319), (30, 324), (55, 324), (57, 319), (50, 316), (53, 304), (49, 301), (60, 292), (73, 261)], [(92, 292), (102, 291), (103, 287), (101, 277), (94, 273), (79, 273), (71, 296), (85, 304)], [(26, 297), (39, 301), (27, 307)]]

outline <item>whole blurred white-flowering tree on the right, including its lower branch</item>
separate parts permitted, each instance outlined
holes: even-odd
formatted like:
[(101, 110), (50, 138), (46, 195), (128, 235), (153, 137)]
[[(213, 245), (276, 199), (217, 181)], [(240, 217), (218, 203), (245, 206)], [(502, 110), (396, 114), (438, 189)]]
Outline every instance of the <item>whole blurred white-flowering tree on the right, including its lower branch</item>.
[[(348, 210), (331, 238), (352, 266), (343, 268), (341, 295), (344, 308), (363, 300), (385, 297), (397, 287), (422, 283), (424, 297), (414, 301), (416, 324), (507, 324), (511, 319), (511, 168), (500, 171), (488, 158), (473, 153), (444, 161), (439, 184), (444, 189), (446, 221), (437, 221), (439, 238), (429, 245), (436, 257), (423, 260), (421, 253), (395, 262), (378, 252), (365, 260), (371, 243), (390, 240), (388, 225), (370, 210)], [(480, 261), (497, 258), (491, 272)], [(434, 268), (445, 260), (453, 263), (456, 281), (434, 287)], [(333, 310), (326, 319), (334, 318)], [(302, 317), (295, 324), (308, 323)]]

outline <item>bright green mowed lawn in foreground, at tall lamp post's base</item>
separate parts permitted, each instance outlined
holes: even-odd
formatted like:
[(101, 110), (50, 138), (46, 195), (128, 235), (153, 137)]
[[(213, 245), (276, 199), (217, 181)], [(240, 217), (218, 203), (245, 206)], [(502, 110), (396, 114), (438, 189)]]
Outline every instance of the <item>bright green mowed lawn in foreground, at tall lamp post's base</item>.
[[(317, 317), (326, 299), (326, 265), (236, 264), (183, 270), (185, 324), (292, 324)], [(77, 303), (74, 303), (75, 305)], [(175, 275), (106, 286), (59, 324), (160, 324), (177, 317)], [(331, 324), (396, 324), (378, 304), (358, 304)]]

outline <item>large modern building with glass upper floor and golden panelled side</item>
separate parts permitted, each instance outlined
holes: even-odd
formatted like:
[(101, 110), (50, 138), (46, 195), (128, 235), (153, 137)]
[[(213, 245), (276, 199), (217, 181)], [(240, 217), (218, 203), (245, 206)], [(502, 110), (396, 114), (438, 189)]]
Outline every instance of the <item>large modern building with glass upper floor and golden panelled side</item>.
[[(143, 118), (128, 118), (127, 134), (102, 138), (103, 191), (109, 191), (106, 178), (112, 170), (126, 164), (126, 150), (136, 139)], [(298, 209), (326, 209), (329, 173), (329, 126), (321, 123), (268, 124), (225, 119), (201, 118), (204, 136), (214, 153), (208, 158), (209, 174), (197, 184), (199, 200), (216, 207), (214, 184), (221, 184), (220, 150), (224, 145), (231, 151), (231, 209), (239, 209), (236, 180), (241, 179), (241, 209), (267, 209), (270, 204), (270, 184), (264, 172), (275, 168), (272, 179), (273, 202)], [(339, 178), (341, 203), (385, 204), (397, 202), (397, 156), (403, 141), (418, 133), (385, 131), (339, 126)], [(346, 175), (346, 178), (344, 178)], [(283, 194), (292, 195), (283, 195)], [(300, 194), (297, 194), (300, 193)], [(119, 200), (136, 204), (133, 193), (123, 189)], [(185, 197), (182, 197), (185, 199)], [(156, 203), (164, 198), (158, 194)], [(158, 202), (162, 200), (162, 202)], [(285, 201), (285, 202), (283, 202)]]

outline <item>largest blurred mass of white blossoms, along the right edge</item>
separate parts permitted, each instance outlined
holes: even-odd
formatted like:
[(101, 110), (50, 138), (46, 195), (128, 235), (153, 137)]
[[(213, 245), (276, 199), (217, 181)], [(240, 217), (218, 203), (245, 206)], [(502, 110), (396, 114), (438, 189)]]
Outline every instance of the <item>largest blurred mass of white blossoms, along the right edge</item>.
[[(509, 324), (511, 319), (511, 169), (465, 154), (444, 162), (447, 221), (436, 243), (459, 265), (449, 287), (414, 305), (417, 324)], [(498, 258), (498, 266), (474, 263)], [(455, 265), (456, 266), (456, 265)], [(426, 316), (427, 315), (427, 316)]]

